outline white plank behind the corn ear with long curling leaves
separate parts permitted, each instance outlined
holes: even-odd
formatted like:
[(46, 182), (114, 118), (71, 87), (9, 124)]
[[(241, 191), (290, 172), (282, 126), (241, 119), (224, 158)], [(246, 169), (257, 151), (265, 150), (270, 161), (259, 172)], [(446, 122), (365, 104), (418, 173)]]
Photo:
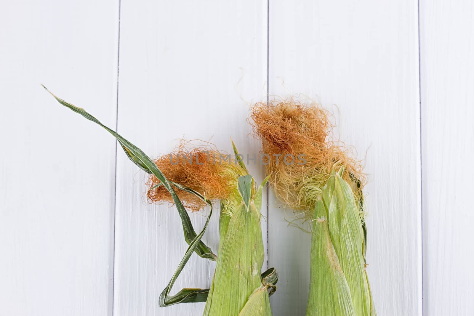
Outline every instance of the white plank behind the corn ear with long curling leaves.
[[(118, 131), (154, 157), (183, 135), (258, 153), (246, 118), (266, 93), (266, 2), (122, 0), (121, 12)], [(187, 248), (177, 212), (146, 203), (146, 175), (123, 153), (117, 180), (114, 315), (200, 315), (204, 303), (158, 307)], [(218, 213), (203, 238), (216, 252)], [(205, 217), (191, 220), (197, 230)], [(209, 287), (214, 268), (194, 254), (172, 293)]]

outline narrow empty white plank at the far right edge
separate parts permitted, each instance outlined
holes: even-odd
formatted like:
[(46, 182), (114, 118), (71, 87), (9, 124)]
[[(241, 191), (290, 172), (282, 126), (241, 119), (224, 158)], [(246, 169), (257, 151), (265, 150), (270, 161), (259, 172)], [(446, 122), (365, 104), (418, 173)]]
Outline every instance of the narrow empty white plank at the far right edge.
[(423, 306), (472, 315), (472, 1), (420, 2)]

